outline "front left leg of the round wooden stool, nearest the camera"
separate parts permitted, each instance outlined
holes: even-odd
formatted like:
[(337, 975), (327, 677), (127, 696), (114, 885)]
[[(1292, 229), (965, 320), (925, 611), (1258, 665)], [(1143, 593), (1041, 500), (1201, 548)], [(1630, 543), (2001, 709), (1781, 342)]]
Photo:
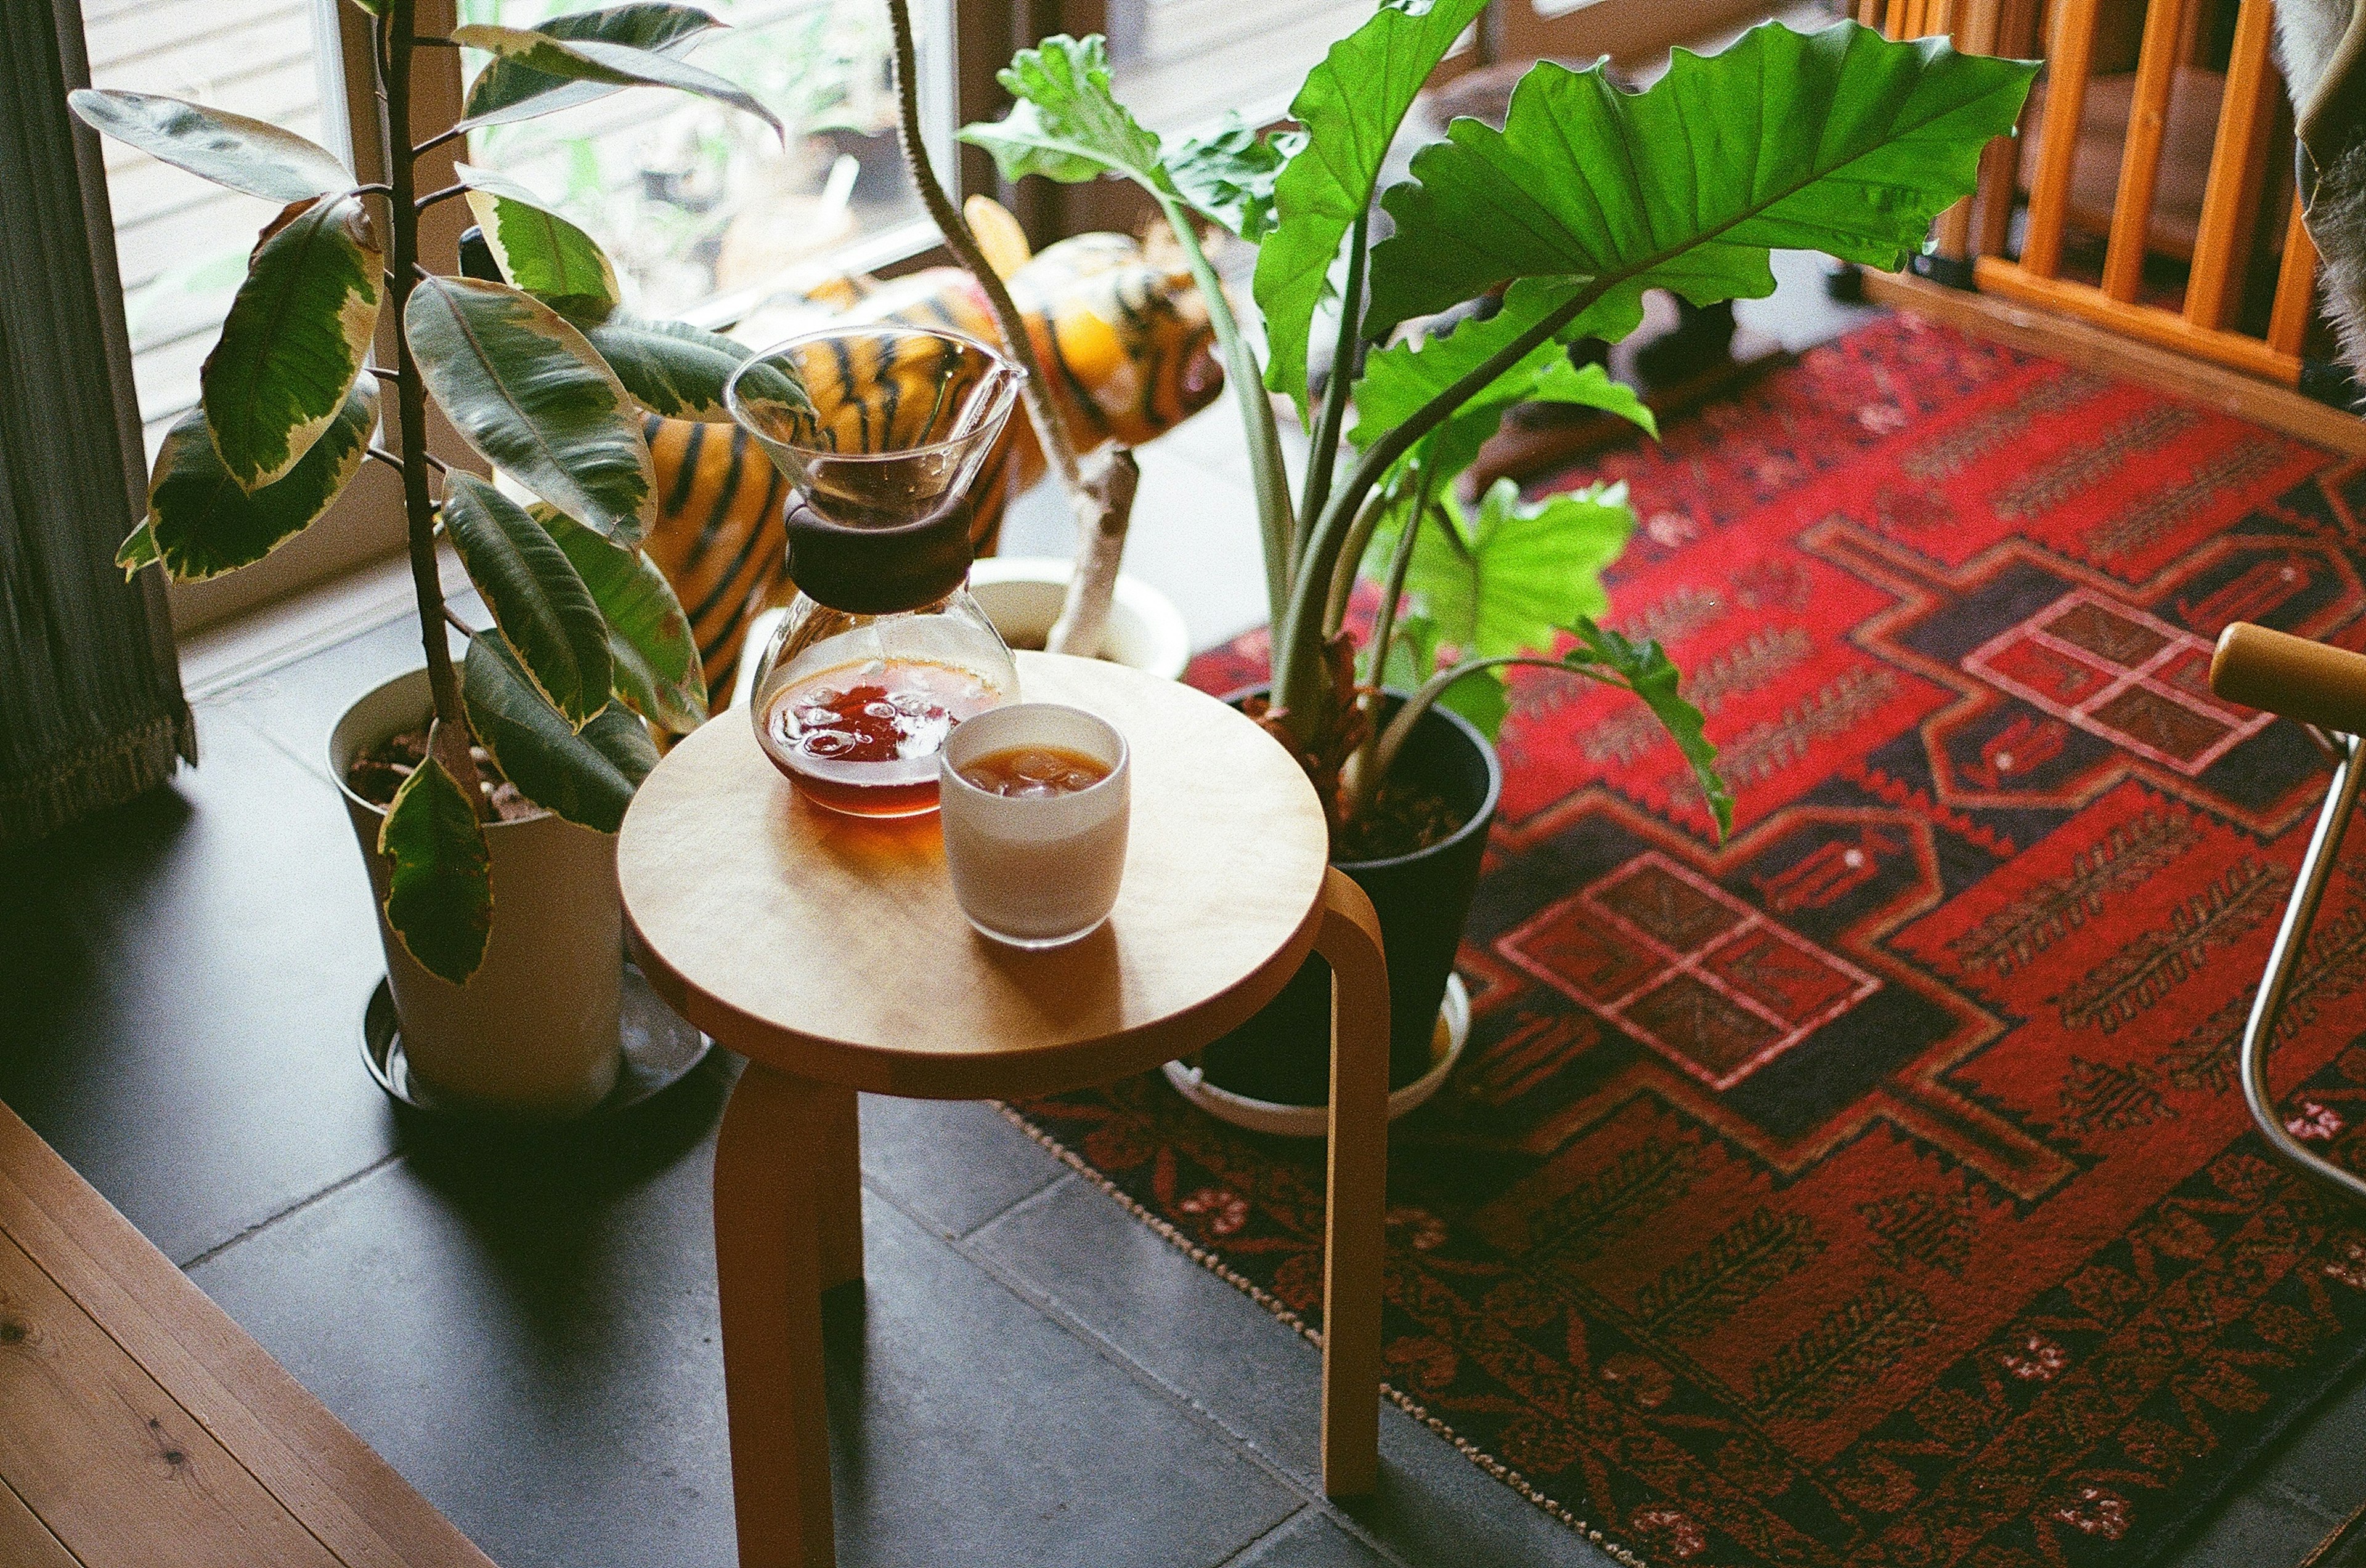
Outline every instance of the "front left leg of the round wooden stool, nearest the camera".
[(852, 1114), (852, 1093), (750, 1062), (715, 1140), (715, 1275), (741, 1568), (835, 1563), (821, 1279), (833, 1145), (845, 1142), (847, 1156), (854, 1147), (833, 1138), (840, 1100)]

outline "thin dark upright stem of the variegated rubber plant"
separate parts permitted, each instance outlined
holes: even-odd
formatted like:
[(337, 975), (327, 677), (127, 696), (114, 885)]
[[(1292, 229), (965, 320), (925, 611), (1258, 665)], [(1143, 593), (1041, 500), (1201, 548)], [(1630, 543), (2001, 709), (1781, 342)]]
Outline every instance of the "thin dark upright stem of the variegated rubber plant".
[(388, 310), (395, 319), (395, 435), (402, 454), (402, 513), (409, 523), (412, 591), (419, 596), (419, 643), (428, 657), (428, 691), (435, 695), (435, 759), (459, 780), (461, 792), (485, 814), (476, 759), (468, 757), (468, 714), (452, 669), (452, 646), (445, 641), (442, 575), (435, 570), (435, 497), (428, 494), (428, 393), (412, 362), (412, 343), (402, 315), (419, 277), (419, 210), (412, 206), (416, 182), (412, 149), (412, 19), (416, 0), (388, 0), (379, 17), (379, 88), (383, 90), (386, 182), (390, 192), (393, 279)]

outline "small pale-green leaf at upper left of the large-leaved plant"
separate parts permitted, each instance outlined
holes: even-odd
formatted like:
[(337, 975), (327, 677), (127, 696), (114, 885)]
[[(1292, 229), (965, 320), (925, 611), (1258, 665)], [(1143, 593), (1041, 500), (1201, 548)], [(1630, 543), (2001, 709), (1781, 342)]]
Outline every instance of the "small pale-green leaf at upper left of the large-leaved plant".
[(1017, 102), (994, 123), (963, 125), (961, 140), (994, 154), (1003, 177), (1043, 175), (1079, 184), (1121, 175), (1176, 194), (1159, 161), (1159, 137), (1110, 92), (1110, 50), (1100, 33), (1046, 38), (994, 73)]

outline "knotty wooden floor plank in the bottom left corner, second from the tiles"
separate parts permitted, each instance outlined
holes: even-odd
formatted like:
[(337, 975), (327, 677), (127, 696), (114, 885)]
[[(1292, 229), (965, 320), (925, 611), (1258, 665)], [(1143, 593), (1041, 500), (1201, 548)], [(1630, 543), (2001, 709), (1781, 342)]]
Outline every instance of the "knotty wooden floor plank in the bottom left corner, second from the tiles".
[(85, 1568), (341, 1568), (0, 1237), (0, 1476)]

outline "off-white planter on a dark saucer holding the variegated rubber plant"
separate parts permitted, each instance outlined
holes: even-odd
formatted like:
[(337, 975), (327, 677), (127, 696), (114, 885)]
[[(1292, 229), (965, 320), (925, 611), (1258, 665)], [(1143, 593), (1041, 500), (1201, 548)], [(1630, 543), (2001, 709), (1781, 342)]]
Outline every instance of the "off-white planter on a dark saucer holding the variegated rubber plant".
[(615, 837), (558, 816), (487, 823), (492, 939), (466, 986), (419, 967), (386, 925), (386, 809), (345, 788), (348, 764), (414, 728), (428, 712), (428, 672), (395, 676), (345, 710), (329, 733), (329, 771), (345, 792), (369, 866), (386, 979), (402, 1019), (402, 1052), (438, 1100), (509, 1116), (575, 1116), (608, 1097), (622, 1052), (618, 991), (625, 911)]

